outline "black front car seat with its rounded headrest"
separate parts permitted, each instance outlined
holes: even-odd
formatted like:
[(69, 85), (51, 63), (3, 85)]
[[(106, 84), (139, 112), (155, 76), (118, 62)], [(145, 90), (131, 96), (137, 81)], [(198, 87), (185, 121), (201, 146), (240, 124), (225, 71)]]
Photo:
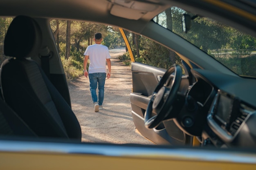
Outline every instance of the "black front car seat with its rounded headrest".
[(71, 107), (49, 81), (37, 62), (42, 32), (28, 16), (17, 16), (4, 39), (1, 65), (2, 98), (38, 137), (81, 141), (81, 127)]

